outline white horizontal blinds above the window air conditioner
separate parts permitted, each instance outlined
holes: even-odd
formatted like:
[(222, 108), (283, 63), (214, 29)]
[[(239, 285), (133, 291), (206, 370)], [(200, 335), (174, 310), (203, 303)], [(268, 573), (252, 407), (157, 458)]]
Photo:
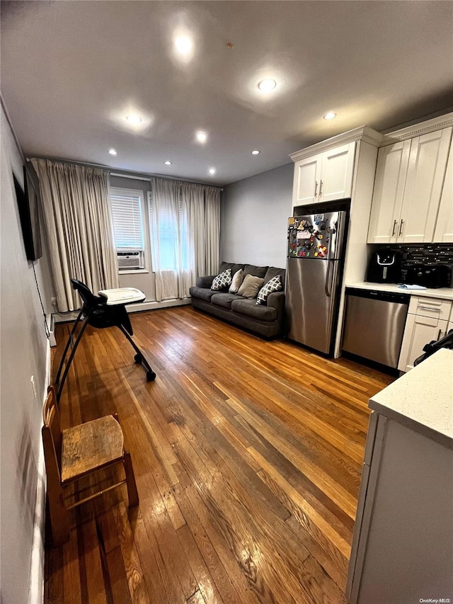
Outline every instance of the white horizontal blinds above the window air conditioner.
[(117, 249), (143, 250), (142, 198), (140, 195), (110, 195), (113, 231)]

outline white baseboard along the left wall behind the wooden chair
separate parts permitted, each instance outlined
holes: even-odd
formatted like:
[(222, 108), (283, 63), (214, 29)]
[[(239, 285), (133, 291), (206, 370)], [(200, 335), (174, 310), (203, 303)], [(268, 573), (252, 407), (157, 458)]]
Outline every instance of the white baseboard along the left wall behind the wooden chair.
[[(50, 343), (47, 342), (45, 363), (45, 388), (42, 393), (42, 403), (47, 396), (47, 386), (50, 384)], [(30, 590), (28, 604), (42, 604), (44, 602), (44, 531), (45, 531), (45, 493), (46, 476), (44, 450), (40, 439), (38, 457), (38, 483), (36, 485), (35, 523), (33, 526), (33, 539), (31, 548)]]

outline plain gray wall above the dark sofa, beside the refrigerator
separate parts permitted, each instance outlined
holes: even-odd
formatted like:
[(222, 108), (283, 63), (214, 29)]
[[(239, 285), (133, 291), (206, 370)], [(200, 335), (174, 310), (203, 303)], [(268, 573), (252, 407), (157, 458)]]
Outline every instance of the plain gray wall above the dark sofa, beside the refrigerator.
[(294, 164), (225, 187), (220, 259), (284, 268)]

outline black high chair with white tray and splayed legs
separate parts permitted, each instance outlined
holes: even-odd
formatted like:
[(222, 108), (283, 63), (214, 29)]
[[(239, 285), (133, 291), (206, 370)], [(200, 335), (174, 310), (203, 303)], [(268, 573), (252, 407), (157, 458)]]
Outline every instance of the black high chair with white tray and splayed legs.
[[(130, 342), (132, 348), (134, 348), (135, 363), (140, 363), (143, 365), (144, 369), (147, 372), (147, 381), (153, 382), (156, 379), (156, 374), (151, 369), (151, 365), (149, 365), (144, 355), (139, 350), (137, 344), (132, 340), (134, 335), (134, 331), (132, 330), (132, 325), (130, 324), (130, 318), (127, 314), (126, 304), (131, 304), (132, 302), (142, 302), (145, 298), (143, 292), (139, 292), (139, 290), (132, 290), (130, 287), (123, 287), (118, 290), (103, 290), (101, 296), (95, 296), (88, 287), (81, 283), (81, 281), (77, 279), (71, 279), (72, 287), (74, 290), (79, 292), (79, 295), (83, 301), (83, 306), (79, 315), (77, 316), (74, 325), (72, 326), (71, 333), (69, 334), (68, 341), (66, 346), (64, 347), (64, 353), (62, 355), (62, 360), (59, 363), (57, 377), (55, 378), (55, 385), (58, 387), (57, 389), (57, 402), (62, 395), (62, 390), (64, 387), (64, 382), (66, 382), (66, 378), (69, 372), (69, 367), (71, 367), (72, 360), (74, 359), (74, 355), (77, 350), (77, 346), (81, 341), (82, 336), (84, 335), (84, 331), (87, 325), (91, 325), (98, 329), (105, 329), (106, 327), (117, 327), (122, 331), (122, 334), (125, 335), (127, 340)], [(111, 295), (110, 292), (113, 292)], [(125, 295), (122, 295), (122, 292), (125, 292), (125, 295), (128, 292), (132, 292), (132, 297), (127, 300)], [(141, 295), (141, 296), (140, 296)], [(83, 321), (82, 321), (83, 319)], [(73, 336), (76, 332), (77, 325), (80, 322), (83, 322), (81, 329), (79, 331), (79, 335), (76, 338), (75, 343), (73, 343)], [(69, 350), (69, 346), (72, 345), (71, 354), (69, 355), (69, 360), (64, 367), (62, 381), (59, 381), (60, 375), (62, 373), (64, 360), (66, 359), (67, 352)]]

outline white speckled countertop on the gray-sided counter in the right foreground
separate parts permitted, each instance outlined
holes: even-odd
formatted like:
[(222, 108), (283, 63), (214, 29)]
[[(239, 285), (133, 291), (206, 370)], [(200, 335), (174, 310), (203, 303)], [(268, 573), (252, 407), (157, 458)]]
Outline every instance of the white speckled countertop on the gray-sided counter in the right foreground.
[(441, 348), (375, 394), (368, 406), (453, 448), (453, 350)]

